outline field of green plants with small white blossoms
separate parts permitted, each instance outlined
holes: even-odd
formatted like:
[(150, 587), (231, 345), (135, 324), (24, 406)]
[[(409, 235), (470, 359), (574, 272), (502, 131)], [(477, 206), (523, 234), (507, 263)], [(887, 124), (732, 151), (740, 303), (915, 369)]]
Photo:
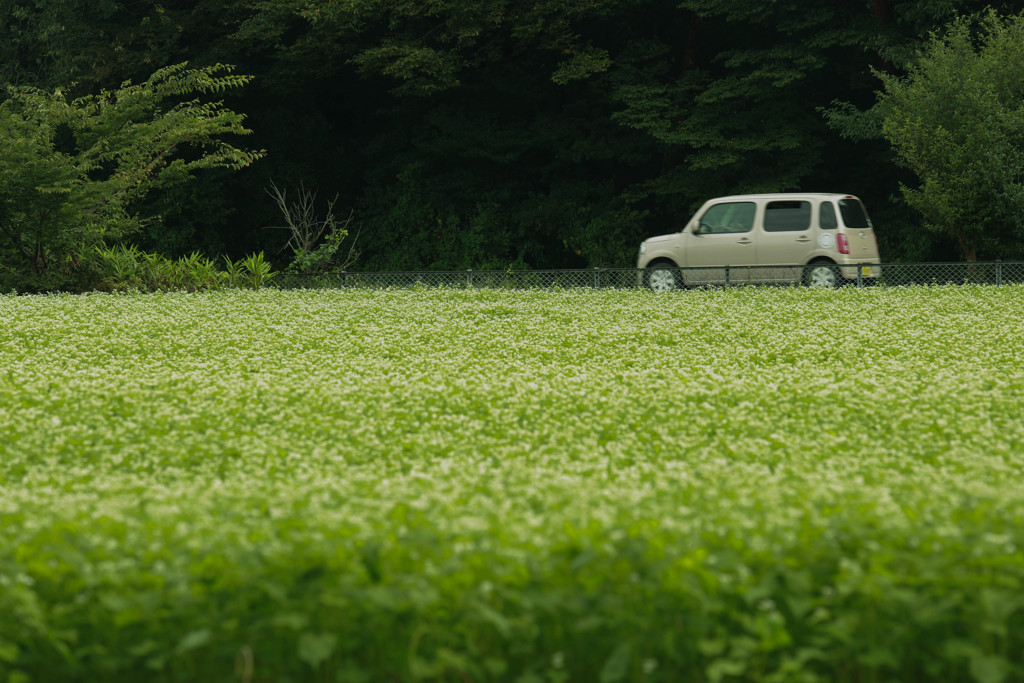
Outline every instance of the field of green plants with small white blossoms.
[(1020, 287), (0, 315), (0, 681), (1024, 675)]

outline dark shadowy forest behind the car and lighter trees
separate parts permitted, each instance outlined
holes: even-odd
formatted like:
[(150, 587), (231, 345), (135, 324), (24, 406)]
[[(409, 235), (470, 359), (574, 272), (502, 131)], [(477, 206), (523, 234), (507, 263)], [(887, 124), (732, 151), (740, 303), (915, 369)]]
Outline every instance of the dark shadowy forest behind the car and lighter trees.
[(254, 77), (224, 99), (266, 157), (142, 208), (160, 218), (135, 244), (170, 257), (287, 260), (273, 183), (337, 195), (360, 270), (630, 267), (706, 199), (782, 190), (858, 195), (884, 261), (958, 260), (902, 203), (874, 71), (1022, 5), (0, 0), (0, 85), (87, 94), (184, 60)]

